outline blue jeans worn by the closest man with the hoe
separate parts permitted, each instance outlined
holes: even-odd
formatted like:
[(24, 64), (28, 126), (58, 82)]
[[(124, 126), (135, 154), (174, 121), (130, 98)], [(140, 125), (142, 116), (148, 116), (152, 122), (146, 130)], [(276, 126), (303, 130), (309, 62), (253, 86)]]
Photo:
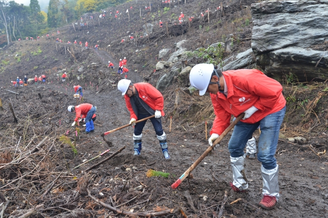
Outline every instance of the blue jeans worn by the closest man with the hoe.
[(276, 113), (272, 113), (259, 122), (250, 124), (239, 121), (229, 141), (229, 152), (233, 158), (244, 155), (245, 145), (255, 129), (260, 125), (261, 134), (258, 140), (257, 160), (262, 163), (266, 170), (274, 169), (276, 164), (276, 149), (279, 138), (280, 126), (284, 120), (286, 106)]

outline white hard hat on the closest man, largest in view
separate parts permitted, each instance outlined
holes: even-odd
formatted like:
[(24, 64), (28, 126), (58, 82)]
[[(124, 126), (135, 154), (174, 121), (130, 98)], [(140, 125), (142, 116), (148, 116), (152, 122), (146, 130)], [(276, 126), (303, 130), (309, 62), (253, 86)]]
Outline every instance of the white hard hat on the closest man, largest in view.
[(199, 90), (199, 95), (205, 94), (211, 80), (213, 70), (214, 65), (208, 63), (200, 63), (192, 67), (189, 74), (189, 80), (191, 86)]

